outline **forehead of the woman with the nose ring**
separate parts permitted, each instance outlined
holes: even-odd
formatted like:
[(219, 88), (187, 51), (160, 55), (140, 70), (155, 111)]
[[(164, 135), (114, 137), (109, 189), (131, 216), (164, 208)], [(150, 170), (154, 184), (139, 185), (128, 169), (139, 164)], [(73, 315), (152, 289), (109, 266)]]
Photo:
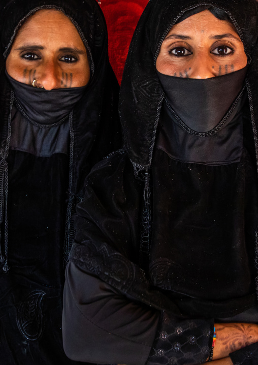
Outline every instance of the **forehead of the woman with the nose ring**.
[(39, 39), (46, 44), (55, 41), (84, 47), (72, 21), (62, 11), (54, 9), (39, 10), (31, 15), (19, 29), (14, 44), (38, 43)]

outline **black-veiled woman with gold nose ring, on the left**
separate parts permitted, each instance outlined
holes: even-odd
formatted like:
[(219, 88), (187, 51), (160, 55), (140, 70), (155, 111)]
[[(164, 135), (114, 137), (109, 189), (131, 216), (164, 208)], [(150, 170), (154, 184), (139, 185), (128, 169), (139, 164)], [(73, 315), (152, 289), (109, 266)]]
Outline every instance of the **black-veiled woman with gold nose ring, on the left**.
[(62, 287), (75, 205), (119, 146), (117, 82), (95, 0), (1, 4), (0, 362), (70, 364)]

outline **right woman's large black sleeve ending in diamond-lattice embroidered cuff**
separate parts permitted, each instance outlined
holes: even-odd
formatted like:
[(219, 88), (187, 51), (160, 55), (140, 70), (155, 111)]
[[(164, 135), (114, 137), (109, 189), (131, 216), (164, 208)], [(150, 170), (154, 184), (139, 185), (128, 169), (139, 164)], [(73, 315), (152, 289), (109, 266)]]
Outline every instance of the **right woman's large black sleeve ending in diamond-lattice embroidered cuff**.
[[(175, 321), (121, 295), (69, 262), (63, 293), (63, 347), (73, 360), (126, 365), (204, 361), (213, 321)], [(174, 361), (174, 362), (173, 362)]]

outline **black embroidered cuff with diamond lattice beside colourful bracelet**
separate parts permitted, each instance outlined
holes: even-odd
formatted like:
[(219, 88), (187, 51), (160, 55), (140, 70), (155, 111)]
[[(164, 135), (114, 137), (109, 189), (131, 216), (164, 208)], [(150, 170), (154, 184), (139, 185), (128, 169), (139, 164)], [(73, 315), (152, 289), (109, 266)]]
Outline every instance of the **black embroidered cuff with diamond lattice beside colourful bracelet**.
[(146, 365), (202, 363), (208, 358), (213, 339), (213, 320), (178, 320), (163, 312), (157, 336)]

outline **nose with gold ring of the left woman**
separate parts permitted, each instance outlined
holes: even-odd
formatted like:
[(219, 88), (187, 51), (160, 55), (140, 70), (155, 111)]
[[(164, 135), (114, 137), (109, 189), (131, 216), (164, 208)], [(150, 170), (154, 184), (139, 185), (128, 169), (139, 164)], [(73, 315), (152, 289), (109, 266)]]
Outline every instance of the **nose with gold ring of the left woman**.
[(48, 60), (37, 70), (37, 84), (45, 90), (61, 87), (60, 70), (53, 60)]

